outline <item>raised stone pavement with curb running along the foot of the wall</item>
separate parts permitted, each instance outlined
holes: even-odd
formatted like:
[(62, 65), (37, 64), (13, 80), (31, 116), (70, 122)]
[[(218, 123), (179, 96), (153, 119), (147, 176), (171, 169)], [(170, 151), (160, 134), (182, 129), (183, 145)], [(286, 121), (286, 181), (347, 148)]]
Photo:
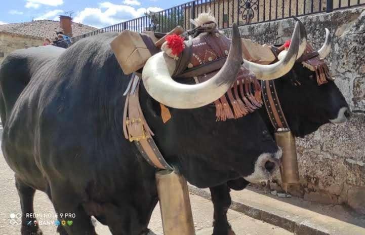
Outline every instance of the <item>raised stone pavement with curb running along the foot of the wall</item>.
[[(208, 189), (189, 185), (189, 190), (210, 199)], [(365, 215), (342, 205), (325, 205), (301, 198), (278, 198), (249, 186), (231, 190), (231, 209), (285, 228), (297, 235), (365, 235)]]

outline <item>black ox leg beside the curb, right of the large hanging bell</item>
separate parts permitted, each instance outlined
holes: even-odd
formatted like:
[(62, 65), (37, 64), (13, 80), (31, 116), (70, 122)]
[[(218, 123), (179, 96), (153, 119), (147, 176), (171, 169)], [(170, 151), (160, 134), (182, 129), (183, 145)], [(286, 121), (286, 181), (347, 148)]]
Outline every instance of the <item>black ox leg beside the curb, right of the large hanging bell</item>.
[(214, 206), (213, 235), (234, 235), (227, 220), (227, 211), (232, 203), (227, 184), (209, 188)]

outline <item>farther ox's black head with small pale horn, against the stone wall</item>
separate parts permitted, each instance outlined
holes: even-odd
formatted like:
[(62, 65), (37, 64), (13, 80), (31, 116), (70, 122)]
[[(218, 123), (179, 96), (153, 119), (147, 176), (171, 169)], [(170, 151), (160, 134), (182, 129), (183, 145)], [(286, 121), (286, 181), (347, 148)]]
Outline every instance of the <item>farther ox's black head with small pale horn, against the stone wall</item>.
[[(330, 50), (331, 35), (326, 28), (325, 43), (314, 54), (323, 63)], [(306, 61), (298, 57), (292, 70), (275, 81), (290, 128), (295, 136), (300, 137), (316, 131), (326, 123), (344, 123), (351, 114), (345, 98), (330, 74), (323, 71), (326, 79), (323, 80), (322, 77), (322, 81), (318, 82), (319, 71), (305, 65)], [(326, 64), (325, 66), (327, 68)]]

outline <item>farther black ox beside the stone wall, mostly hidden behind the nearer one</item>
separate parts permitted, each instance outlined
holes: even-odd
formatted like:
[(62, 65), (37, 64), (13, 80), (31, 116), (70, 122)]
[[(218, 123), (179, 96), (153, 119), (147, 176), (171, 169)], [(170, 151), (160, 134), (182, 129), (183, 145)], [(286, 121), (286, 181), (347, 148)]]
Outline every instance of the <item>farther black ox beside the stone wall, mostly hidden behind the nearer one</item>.
[[(326, 32), (326, 42), (319, 50), (319, 57), (322, 58), (330, 51), (331, 37), (328, 29)], [(282, 111), (295, 137), (305, 137), (328, 123), (344, 123), (351, 116), (351, 110), (335, 82), (328, 81), (318, 86), (316, 73), (303, 67), (299, 61), (288, 74), (274, 80), (274, 83)], [(265, 107), (258, 112), (274, 137), (275, 130)], [(214, 234), (234, 234), (227, 221), (227, 211), (231, 205), (229, 192), (230, 189), (242, 190), (249, 183), (239, 178), (210, 188), (214, 204)]]

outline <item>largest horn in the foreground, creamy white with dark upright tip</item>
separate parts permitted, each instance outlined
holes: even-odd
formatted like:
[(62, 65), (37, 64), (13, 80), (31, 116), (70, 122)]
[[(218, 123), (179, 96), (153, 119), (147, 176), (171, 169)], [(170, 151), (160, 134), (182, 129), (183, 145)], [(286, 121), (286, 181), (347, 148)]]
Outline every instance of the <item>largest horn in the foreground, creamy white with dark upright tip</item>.
[(173, 108), (197, 108), (222, 97), (233, 82), (242, 64), (242, 47), (236, 24), (232, 25), (232, 41), (226, 62), (210, 80), (187, 85), (175, 82), (171, 74), (176, 61), (163, 52), (150, 57), (144, 65), (142, 80), (148, 94)]

